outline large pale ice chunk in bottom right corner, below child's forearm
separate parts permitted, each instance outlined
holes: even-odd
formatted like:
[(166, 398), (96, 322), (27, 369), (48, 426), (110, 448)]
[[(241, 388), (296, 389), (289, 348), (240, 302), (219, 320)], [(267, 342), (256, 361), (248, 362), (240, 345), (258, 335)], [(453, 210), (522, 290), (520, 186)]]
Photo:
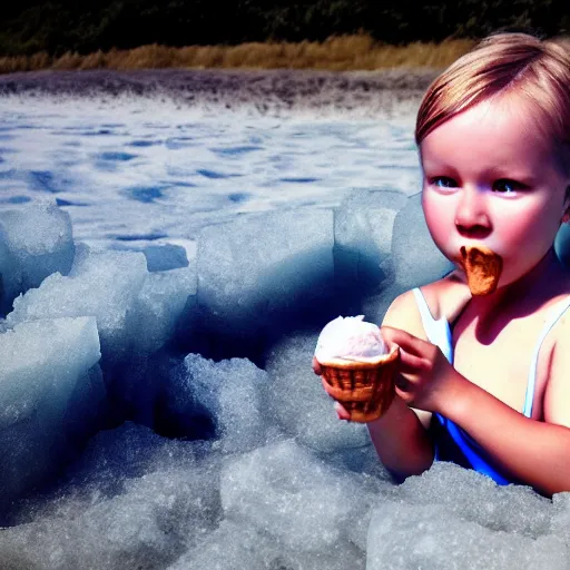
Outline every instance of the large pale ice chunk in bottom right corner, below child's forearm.
[(436, 462), (374, 510), (366, 568), (568, 568), (568, 540), (552, 524), (562, 510), (530, 488)]

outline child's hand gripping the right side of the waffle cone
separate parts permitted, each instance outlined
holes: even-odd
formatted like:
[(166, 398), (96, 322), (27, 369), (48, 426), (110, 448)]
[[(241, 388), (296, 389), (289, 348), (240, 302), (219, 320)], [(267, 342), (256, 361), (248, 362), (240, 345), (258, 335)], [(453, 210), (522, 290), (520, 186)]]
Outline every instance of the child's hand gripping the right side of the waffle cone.
[(441, 348), (400, 328), (381, 331), (386, 341), (400, 346), (396, 394), (413, 407), (441, 413), (458, 377)]

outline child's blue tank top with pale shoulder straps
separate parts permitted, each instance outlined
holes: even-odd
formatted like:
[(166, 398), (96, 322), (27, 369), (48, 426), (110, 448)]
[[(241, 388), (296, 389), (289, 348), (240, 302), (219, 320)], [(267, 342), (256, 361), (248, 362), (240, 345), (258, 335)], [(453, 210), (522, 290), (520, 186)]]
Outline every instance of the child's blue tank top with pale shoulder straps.
[[(448, 361), (453, 364), (453, 345), (450, 324), (443, 316), (439, 320), (433, 318), (420, 288), (416, 287), (412, 291), (415, 296), (417, 308), (422, 316), (422, 324), (429, 341), (432, 344), (438, 345)], [(532, 354), (527, 383), (527, 394), (522, 410), (522, 413), (527, 417), (532, 416), (532, 403), (534, 401), (534, 384), (537, 380), (537, 364), (540, 347), (547, 334), (569, 306), (570, 298), (564, 299), (561, 307), (554, 311), (550, 320), (547, 321), (539, 336), (539, 341)], [(438, 461), (452, 461), (453, 463), (464, 468), (474, 469), (475, 471), (490, 476), (501, 485), (519, 482), (502, 472), (501, 469), (493, 463), (492, 458), (483, 450), (483, 448), (481, 448), (464, 430), (451, 420), (441, 414), (434, 413), (432, 415), (430, 430), (433, 433), (435, 459)]]

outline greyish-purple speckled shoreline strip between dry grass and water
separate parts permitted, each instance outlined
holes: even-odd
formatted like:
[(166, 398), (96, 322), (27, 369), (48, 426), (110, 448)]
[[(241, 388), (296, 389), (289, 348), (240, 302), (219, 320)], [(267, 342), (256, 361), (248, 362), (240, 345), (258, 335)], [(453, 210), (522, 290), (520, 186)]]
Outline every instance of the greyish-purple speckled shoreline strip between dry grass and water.
[(375, 71), (109, 69), (42, 70), (0, 76), (0, 97), (63, 96), (168, 99), (184, 107), (257, 108), (262, 114), (287, 110), (397, 108), (417, 100), (440, 69), (397, 68)]

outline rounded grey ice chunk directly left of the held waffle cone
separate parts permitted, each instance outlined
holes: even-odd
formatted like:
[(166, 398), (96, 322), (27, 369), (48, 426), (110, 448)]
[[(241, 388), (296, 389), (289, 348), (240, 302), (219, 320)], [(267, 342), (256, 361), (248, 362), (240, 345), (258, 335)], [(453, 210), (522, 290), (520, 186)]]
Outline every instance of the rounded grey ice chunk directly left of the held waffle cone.
[(295, 335), (275, 344), (267, 355), (268, 417), (309, 448), (332, 452), (370, 445), (364, 424), (338, 421), (333, 401), (311, 367), (317, 334)]

